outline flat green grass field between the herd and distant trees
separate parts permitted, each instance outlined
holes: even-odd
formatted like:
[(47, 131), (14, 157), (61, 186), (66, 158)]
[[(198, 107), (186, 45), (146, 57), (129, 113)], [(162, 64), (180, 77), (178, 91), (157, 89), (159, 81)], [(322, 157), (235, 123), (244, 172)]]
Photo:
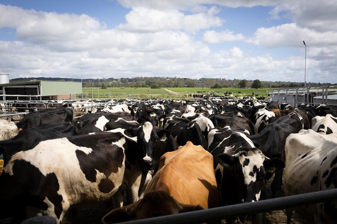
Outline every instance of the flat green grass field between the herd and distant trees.
[[(211, 91), (214, 91), (218, 95), (223, 95), (224, 91), (233, 92), (233, 96), (244, 96), (244, 95), (254, 95), (259, 94), (259, 96), (266, 96), (266, 91), (269, 89), (235, 89), (235, 88), (222, 88), (222, 89), (210, 89), (210, 88), (167, 88), (168, 90), (177, 92), (178, 94), (172, 94), (168, 91), (161, 89), (151, 89), (151, 88), (83, 88), (83, 98), (101, 98), (101, 99), (110, 99), (110, 98), (135, 98), (135, 99), (154, 99), (154, 98), (173, 98), (173, 99), (182, 99), (187, 98), (183, 96), (184, 93), (202, 93), (202, 94), (211, 94)], [(93, 92), (93, 96), (91, 94)], [(241, 92), (241, 93), (239, 93)], [(76, 96), (81, 97), (77, 94)]]

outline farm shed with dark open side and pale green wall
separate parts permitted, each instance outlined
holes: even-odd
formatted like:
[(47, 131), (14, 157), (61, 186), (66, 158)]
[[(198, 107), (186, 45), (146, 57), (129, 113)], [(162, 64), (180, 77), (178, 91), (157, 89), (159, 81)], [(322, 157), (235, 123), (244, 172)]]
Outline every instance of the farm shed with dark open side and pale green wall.
[(0, 100), (70, 99), (82, 93), (81, 82), (32, 80), (0, 84)]

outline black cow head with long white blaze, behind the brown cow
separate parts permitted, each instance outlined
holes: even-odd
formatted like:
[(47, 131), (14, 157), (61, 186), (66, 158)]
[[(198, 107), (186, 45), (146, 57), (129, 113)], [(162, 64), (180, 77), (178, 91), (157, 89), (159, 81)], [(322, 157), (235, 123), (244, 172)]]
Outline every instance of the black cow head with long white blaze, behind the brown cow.
[(155, 166), (155, 144), (162, 137), (169, 137), (167, 130), (160, 130), (146, 121), (137, 130), (126, 129), (124, 131), (129, 137), (137, 136), (137, 147), (144, 170), (153, 170)]

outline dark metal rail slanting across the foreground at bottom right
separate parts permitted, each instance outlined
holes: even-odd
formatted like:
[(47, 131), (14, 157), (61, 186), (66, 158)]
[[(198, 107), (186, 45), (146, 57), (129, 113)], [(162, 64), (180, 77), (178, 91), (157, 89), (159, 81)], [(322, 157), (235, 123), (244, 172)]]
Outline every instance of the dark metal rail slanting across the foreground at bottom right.
[(253, 215), (262, 212), (281, 210), (300, 205), (313, 204), (337, 199), (337, 189), (273, 198), (257, 202), (248, 202), (231, 206), (223, 206), (176, 215), (161, 216), (150, 219), (134, 220), (119, 224), (197, 224), (218, 221), (231, 217)]

